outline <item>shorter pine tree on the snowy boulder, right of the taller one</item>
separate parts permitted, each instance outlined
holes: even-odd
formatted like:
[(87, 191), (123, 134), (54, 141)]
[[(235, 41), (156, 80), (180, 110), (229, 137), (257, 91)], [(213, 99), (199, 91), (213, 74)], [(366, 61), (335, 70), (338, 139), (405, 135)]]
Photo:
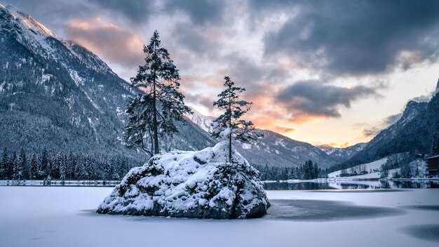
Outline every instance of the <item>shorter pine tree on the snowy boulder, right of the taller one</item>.
[(219, 93), (219, 99), (213, 102), (215, 107), (224, 110), (224, 113), (217, 117), (212, 123), (212, 137), (224, 137), (229, 140), (229, 161), (231, 161), (231, 140), (236, 139), (241, 142), (250, 143), (257, 140), (254, 133), (255, 126), (252, 121), (241, 119), (243, 114), (250, 111), (252, 102), (239, 100), (239, 93), (245, 88), (236, 87), (234, 81), (229, 76), (224, 77), (224, 91)]

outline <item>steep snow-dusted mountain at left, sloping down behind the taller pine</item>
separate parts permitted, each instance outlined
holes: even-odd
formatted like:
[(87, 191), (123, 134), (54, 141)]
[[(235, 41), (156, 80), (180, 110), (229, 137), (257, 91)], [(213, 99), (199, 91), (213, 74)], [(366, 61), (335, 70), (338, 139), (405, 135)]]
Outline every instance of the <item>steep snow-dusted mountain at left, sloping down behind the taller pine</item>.
[[(26, 152), (143, 154), (121, 145), (124, 109), (140, 93), (86, 48), (61, 39), (13, 6), (0, 6), (0, 148)], [(163, 148), (203, 149), (214, 142), (179, 124)]]

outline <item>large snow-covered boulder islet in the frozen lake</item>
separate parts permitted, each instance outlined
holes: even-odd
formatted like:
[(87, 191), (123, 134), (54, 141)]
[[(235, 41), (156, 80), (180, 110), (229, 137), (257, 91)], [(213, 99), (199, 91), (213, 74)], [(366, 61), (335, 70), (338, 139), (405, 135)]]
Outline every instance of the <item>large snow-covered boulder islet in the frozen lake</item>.
[(177, 218), (257, 218), (270, 203), (259, 173), (228, 142), (153, 156), (131, 169), (97, 213)]

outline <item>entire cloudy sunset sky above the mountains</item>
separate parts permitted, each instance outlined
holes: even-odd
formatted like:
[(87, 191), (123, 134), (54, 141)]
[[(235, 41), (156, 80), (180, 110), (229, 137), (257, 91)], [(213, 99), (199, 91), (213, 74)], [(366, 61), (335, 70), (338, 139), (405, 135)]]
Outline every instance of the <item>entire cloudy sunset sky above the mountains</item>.
[(0, 1), (127, 80), (157, 29), (189, 105), (215, 114), (228, 75), (257, 128), (312, 144), (370, 140), (439, 78), (439, 1)]

